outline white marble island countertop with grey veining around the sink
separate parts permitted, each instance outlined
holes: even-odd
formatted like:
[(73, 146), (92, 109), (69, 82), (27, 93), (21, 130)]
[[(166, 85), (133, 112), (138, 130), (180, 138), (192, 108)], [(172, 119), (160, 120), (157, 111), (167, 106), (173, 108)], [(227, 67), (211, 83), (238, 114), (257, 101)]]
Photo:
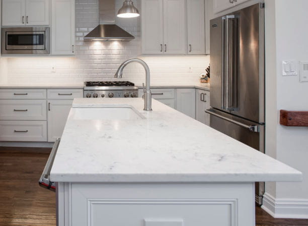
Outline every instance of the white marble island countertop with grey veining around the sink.
[(300, 181), (299, 171), (156, 100), (77, 98), (73, 107), (131, 106), (145, 119), (74, 120), (51, 169), (54, 182)]

